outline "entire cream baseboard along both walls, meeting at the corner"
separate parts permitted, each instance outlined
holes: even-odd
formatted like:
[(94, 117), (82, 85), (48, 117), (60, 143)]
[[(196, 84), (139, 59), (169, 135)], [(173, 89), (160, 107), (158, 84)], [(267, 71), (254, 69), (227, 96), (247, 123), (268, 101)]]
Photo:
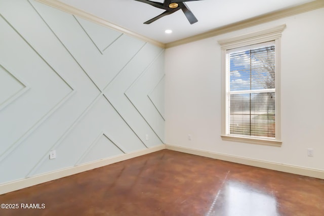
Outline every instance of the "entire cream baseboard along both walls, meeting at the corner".
[(90, 162), (90, 163), (85, 163), (82, 165), (77, 165), (77, 166), (49, 172), (47, 174), (42, 174), (39, 176), (34, 176), (34, 177), (22, 179), (22, 180), (17, 180), (14, 182), (5, 183), (3, 185), (0, 185), (0, 194), (5, 194), (5, 193), (11, 192), (11, 191), (16, 191), (16, 190), (19, 190), (22, 188), (27, 188), (27, 187), (30, 187), (33, 185), (38, 185), (41, 183), (53, 181), (56, 179), (60, 179), (63, 177), (77, 174), (79, 172), (91, 170), (91, 169), (98, 168), (101, 166), (106, 166), (106, 165), (109, 165), (112, 163), (131, 159), (134, 157), (149, 154), (149, 153), (156, 152), (156, 151), (163, 150), (163, 149), (169, 149), (169, 150), (193, 154), (193, 155), (199, 155), (199, 156), (204, 156), (204, 157), (209, 157), (209, 158), (214, 158), (214, 159), (219, 159), (219, 160), (225, 160), (225, 161), (230, 161), (230, 162), (234, 162), (234, 163), (246, 164), (246, 165), (250, 165), (250, 166), (273, 169), (273, 170), (282, 171), (282, 172), (289, 172), (291, 174), (297, 174), (297, 175), (302, 175), (302, 176), (314, 177), (314, 178), (318, 178), (318, 179), (324, 179), (324, 170), (310, 169), (310, 168), (306, 168), (306, 167), (293, 166), (293, 165), (287, 165), (287, 164), (281, 164), (281, 163), (273, 163), (273, 162), (269, 162), (269, 161), (255, 160), (255, 159), (251, 159), (251, 158), (237, 157), (237, 156), (233, 156), (233, 155), (220, 154), (220, 153), (215, 153), (215, 152), (209, 152), (209, 151), (203, 151), (203, 150), (197, 150), (197, 149), (191, 149), (191, 148), (166, 144), (166, 145), (154, 146), (152, 148), (139, 150), (139, 151), (135, 151), (135, 152), (124, 154), (124, 155), (119, 155), (119, 156), (115, 156), (115, 157), (111, 157), (111, 158), (107, 158), (107, 159), (103, 159), (103, 160), (98, 160), (98, 161), (94, 161), (94, 162)]

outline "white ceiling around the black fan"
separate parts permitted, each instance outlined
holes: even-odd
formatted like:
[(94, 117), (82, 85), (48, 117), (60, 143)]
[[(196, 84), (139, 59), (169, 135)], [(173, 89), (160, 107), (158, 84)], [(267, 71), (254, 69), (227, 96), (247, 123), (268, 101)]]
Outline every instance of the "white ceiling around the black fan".
[[(165, 10), (134, 0), (59, 1), (166, 44), (227, 24), (314, 0), (201, 0), (187, 2), (187, 6), (198, 19), (198, 22), (192, 25), (181, 10), (162, 17), (151, 24), (143, 24), (143, 22), (163, 13)], [(155, 1), (163, 2), (163, 0)], [(173, 33), (166, 34), (166, 29), (172, 29)]]

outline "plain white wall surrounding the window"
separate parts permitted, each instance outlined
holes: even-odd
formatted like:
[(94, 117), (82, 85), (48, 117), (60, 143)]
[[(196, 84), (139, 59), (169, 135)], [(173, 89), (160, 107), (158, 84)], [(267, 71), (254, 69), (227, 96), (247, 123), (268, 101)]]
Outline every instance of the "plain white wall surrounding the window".
[[(324, 9), (166, 50), (166, 143), (324, 170)], [(281, 38), (282, 146), (222, 141), (219, 39), (286, 24)], [(189, 141), (188, 134), (192, 136)], [(307, 156), (314, 149), (314, 157)]]

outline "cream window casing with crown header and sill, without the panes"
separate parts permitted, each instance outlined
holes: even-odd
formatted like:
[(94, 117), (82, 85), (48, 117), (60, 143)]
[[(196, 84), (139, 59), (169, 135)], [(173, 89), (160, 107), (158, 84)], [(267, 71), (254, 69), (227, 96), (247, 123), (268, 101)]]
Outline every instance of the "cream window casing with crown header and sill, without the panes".
[[(222, 49), (222, 140), (244, 142), (260, 145), (281, 146), (281, 113), (280, 113), (280, 38), (286, 25), (253, 32), (229, 39), (219, 40)], [(228, 124), (228, 77), (226, 73), (226, 55), (228, 50), (274, 41), (275, 45), (275, 138), (249, 137), (242, 135), (230, 135)]]

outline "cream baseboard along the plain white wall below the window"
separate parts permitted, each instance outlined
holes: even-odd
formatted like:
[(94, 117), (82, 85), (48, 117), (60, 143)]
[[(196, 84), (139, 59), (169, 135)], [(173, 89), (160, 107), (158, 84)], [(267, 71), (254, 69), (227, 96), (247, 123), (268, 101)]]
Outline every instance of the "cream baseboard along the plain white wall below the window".
[(266, 169), (272, 169), (282, 172), (289, 172), (291, 174), (297, 174), (302, 176), (308, 176), (318, 179), (324, 179), (324, 170), (318, 170), (318, 169), (310, 169), (306, 167), (301, 166), (293, 166), (288, 164), (281, 164), (281, 163), (273, 163), (269, 161), (264, 160), (255, 160), (251, 158), (245, 158), (245, 157), (237, 157), (234, 155), (227, 155), (227, 154), (219, 154), (215, 152), (209, 152), (209, 151), (203, 151), (203, 150), (197, 150), (197, 149), (191, 149), (181, 146), (174, 146), (170, 144), (166, 144), (166, 149), (188, 153), (188, 154), (194, 154), (219, 160), (225, 160), (230, 161), (234, 163), (240, 163), (250, 166), (256, 166)]

